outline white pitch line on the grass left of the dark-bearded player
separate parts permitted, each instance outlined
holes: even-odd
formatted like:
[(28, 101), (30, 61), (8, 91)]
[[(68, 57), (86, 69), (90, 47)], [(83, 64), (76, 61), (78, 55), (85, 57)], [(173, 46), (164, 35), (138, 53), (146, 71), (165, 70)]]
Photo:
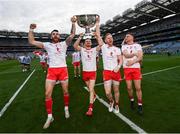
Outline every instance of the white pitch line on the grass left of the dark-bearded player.
[(27, 83), (27, 81), (31, 78), (33, 73), (35, 72), (35, 69), (31, 72), (31, 74), (26, 78), (26, 80), (23, 82), (23, 84), (18, 88), (18, 90), (14, 93), (14, 95), (9, 99), (9, 101), (6, 103), (6, 105), (2, 108), (0, 112), (0, 117), (4, 114), (4, 112), (7, 110), (7, 108), (10, 106), (10, 104), (14, 101), (18, 93), (21, 91), (21, 89), (24, 87), (24, 85)]

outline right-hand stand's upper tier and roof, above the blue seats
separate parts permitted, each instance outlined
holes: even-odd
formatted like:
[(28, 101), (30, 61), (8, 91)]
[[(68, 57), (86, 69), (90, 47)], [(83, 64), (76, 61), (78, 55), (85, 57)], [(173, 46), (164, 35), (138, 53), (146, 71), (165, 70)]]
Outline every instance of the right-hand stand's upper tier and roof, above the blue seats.
[(133, 9), (113, 17), (101, 25), (101, 33), (114, 35), (121, 44), (127, 33), (132, 33), (142, 45), (180, 39), (179, 0), (143, 0)]

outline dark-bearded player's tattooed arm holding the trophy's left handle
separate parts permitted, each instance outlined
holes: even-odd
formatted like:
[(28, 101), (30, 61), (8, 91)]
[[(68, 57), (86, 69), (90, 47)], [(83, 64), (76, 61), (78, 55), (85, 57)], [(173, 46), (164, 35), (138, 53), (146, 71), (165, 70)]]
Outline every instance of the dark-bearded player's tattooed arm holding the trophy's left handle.
[(71, 34), (68, 36), (68, 38), (66, 39), (66, 44), (67, 45), (70, 45), (71, 44), (71, 41), (72, 39), (74, 38), (75, 36), (75, 33), (76, 33), (76, 16), (73, 16), (71, 18), (71, 22), (72, 22), (72, 27), (71, 27)]

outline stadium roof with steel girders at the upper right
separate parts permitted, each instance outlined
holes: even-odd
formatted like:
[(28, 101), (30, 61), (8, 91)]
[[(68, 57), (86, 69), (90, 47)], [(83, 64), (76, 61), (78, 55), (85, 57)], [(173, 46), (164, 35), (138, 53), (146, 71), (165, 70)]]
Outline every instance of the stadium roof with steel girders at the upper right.
[(121, 33), (137, 26), (174, 16), (179, 12), (179, 0), (143, 0), (136, 4), (134, 9), (129, 8), (122, 15), (116, 15), (112, 20), (102, 24), (100, 28), (102, 34), (106, 32), (112, 34)]

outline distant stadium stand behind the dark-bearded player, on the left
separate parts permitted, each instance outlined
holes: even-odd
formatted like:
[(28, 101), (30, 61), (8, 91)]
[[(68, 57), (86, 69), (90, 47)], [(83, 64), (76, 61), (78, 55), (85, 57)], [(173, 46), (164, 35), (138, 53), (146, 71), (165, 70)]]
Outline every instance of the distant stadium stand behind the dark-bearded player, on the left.
[[(34, 33), (35, 39), (43, 42), (50, 40), (49, 33)], [(61, 39), (65, 40), (67, 34), (61, 34)], [(20, 55), (28, 54), (39, 50), (38, 48), (28, 44), (28, 33), (0, 31), (0, 60), (16, 59)]]

